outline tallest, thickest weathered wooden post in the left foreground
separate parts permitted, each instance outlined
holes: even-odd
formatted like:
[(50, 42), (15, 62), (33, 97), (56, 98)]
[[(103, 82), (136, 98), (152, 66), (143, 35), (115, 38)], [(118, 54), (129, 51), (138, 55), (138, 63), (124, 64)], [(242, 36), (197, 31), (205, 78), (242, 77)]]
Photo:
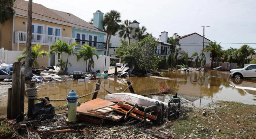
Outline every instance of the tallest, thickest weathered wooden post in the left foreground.
[(12, 110), (11, 119), (19, 119), (20, 114), (20, 82), (21, 82), (21, 62), (13, 63), (12, 74)]

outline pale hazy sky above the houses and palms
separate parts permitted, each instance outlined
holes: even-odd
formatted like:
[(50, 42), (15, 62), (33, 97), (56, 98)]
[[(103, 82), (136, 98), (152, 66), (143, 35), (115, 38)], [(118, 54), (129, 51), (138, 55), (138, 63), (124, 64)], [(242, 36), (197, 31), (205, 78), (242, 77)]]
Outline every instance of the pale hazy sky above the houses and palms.
[[(85, 21), (93, 13), (116, 9), (122, 20), (137, 20), (147, 32), (158, 37), (167, 31), (203, 34), (217, 42), (256, 43), (256, 1), (254, 0), (33, 0), (45, 7), (72, 13)], [(221, 44), (223, 48), (238, 48), (242, 44)], [(248, 44), (256, 48), (256, 44)]]

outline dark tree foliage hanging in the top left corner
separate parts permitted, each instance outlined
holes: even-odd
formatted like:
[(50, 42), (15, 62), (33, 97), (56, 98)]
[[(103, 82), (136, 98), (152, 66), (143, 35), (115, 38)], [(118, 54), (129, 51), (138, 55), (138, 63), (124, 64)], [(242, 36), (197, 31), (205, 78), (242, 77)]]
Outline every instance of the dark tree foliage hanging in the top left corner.
[[(3, 24), (15, 13), (14, 9), (11, 7), (14, 5), (16, 0), (1, 0), (0, 1), (0, 24)], [(6, 11), (6, 12), (5, 12)]]

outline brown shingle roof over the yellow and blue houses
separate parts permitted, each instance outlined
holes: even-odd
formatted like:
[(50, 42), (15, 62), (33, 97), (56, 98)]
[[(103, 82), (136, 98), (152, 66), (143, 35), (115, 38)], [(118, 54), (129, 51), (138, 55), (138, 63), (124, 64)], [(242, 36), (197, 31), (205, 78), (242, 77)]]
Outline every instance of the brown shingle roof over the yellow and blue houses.
[[(28, 9), (28, 1), (16, 0), (14, 4), (14, 10), (16, 14), (27, 17), (28, 16), (27, 9)], [(101, 31), (99, 28), (95, 27), (94, 25), (91, 25), (90, 23), (82, 20), (79, 17), (76, 17), (73, 14), (57, 11), (55, 9), (46, 8), (45, 6), (38, 3), (32, 3), (32, 11), (33, 11), (33, 14), (32, 14), (33, 19), (43, 20), (47, 22), (54, 22), (57, 24), (67, 25), (67, 26), (71, 26), (79, 29), (85, 29), (93, 32), (105, 33)], [(34, 13), (37, 13), (37, 14), (34, 14)]]

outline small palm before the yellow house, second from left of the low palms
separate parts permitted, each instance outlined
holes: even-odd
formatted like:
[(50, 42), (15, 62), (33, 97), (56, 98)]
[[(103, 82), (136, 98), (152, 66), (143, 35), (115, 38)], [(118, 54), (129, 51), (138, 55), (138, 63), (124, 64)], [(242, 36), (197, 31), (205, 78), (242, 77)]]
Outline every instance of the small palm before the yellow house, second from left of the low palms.
[(65, 53), (67, 50), (68, 44), (66, 42), (62, 42), (60, 39), (57, 40), (56, 43), (51, 45), (51, 53), (60, 53), (60, 70), (63, 70), (62, 66), (62, 53)]

